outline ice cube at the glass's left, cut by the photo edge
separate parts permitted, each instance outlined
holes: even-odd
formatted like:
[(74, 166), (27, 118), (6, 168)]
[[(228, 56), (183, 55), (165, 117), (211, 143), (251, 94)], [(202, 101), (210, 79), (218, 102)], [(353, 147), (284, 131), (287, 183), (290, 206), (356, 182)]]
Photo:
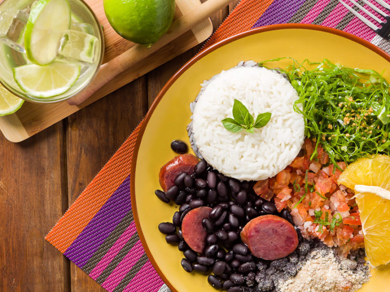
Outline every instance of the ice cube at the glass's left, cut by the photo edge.
[(28, 19), (28, 10), (5, 10), (0, 14), (0, 40), (7, 46), (25, 53), (24, 29)]

